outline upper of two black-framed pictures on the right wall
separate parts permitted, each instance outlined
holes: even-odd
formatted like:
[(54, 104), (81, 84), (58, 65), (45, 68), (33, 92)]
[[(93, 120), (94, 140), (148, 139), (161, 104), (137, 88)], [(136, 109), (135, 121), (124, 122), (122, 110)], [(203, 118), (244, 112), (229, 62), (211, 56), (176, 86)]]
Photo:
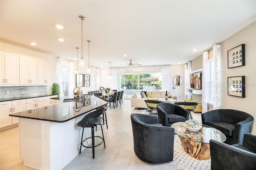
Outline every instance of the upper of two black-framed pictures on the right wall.
[(245, 65), (245, 45), (241, 44), (228, 50), (228, 68), (240, 67)]

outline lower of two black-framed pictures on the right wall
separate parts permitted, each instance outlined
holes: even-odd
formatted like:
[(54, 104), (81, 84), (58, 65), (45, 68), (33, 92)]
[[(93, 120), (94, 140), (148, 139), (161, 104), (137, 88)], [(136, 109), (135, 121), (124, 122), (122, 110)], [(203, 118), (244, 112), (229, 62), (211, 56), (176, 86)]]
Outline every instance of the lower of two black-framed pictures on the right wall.
[(228, 95), (245, 97), (245, 76), (228, 77)]

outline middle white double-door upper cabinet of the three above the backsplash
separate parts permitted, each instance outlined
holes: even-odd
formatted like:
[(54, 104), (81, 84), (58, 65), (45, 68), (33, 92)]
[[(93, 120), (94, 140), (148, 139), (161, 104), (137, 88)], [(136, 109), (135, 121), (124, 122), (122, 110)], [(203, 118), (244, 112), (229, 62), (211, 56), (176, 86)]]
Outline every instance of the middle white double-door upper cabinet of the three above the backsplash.
[(20, 55), (20, 84), (38, 84), (38, 59)]

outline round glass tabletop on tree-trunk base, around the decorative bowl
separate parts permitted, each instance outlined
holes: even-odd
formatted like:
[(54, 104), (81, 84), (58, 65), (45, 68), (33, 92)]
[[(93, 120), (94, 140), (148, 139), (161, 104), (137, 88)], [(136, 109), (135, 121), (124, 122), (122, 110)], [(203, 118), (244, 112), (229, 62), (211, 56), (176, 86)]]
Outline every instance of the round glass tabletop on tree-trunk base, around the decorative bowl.
[(216, 128), (201, 125), (202, 128), (200, 130), (193, 132), (186, 129), (183, 124), (184, 122), (177, 122), (172, 124), (171, 127), (174, 128), (176, 134), (188, 140), (202, 143), (210, 143), (210, 139), (218, 140), (220, 142), (226, 140), (225, 134)]

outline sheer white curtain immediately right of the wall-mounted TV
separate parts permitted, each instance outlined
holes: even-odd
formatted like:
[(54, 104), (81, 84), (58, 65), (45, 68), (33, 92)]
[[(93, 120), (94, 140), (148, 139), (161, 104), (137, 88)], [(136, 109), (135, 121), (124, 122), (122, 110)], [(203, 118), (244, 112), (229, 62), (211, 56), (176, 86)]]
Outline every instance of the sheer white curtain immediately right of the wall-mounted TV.
[(208, 61), (208, 51), (205, 51), (203, 53), (203, 74), (202, 76), (202, 113), (205, 113), (208, 111), (207, 107), (207, 99), (208, 99), (208, 82), (209, 80), (209, 75), (210, 75), (210, 67), (209, 67), (209, 61)]

